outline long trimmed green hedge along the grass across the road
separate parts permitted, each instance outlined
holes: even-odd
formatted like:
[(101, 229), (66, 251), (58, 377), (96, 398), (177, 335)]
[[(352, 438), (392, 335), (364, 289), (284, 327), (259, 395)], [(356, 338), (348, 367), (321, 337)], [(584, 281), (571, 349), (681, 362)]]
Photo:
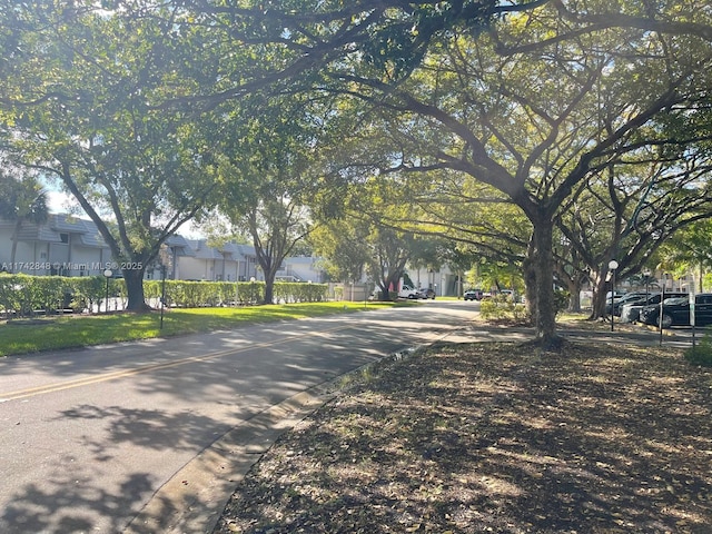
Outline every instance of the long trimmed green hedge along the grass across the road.
[[(263, 281), (184, 281), (166, 280), (166, 304), (184, 308), (235, 306), (261, 303)], [(149, 303), (160, 303), (161, 280), (145, 280), (144, 293)], [(126, 303), (126, 284), (120, 278), (108, 280), (108, 294)], [(107, 279), (102, 276), (62, 277), (0, 274), (0, 310), (9, 316), (29, 317), (71, 308), (75, 312), (106, 306)], [(275, 301), (313, 303), (327, 298), (325, 284), (275, 283)], [(123, 307), (122, 305), (119, 307)]]

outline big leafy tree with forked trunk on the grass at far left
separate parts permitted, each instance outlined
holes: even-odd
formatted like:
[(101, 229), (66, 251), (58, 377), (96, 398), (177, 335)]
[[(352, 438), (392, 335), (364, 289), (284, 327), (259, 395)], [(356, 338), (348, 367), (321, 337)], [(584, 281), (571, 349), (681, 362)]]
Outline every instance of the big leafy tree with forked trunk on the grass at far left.
[(197, 90), (194, 65), (209, 69), (216, 51), (206, 32), (180, 36), (162, 14), (17, 4), (2, 61), (6, 150), (76, 197), (121, 269), (132, 310), (146, 307), (144, 271), (161, 243), (204, 208), (215, 168), (210, 117), (154, 105)]

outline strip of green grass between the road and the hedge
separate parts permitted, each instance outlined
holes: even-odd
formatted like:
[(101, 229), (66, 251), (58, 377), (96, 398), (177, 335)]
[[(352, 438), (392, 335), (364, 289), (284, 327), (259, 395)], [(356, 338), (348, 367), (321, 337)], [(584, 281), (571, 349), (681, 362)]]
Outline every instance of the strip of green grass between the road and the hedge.
[(318, 317), (393, 305), (337, 301), (170, 309), (164, 314), (162, 329), (158, 312), (11, 320), (0, 325), (0, 356), (231, 329), (246, 324)]

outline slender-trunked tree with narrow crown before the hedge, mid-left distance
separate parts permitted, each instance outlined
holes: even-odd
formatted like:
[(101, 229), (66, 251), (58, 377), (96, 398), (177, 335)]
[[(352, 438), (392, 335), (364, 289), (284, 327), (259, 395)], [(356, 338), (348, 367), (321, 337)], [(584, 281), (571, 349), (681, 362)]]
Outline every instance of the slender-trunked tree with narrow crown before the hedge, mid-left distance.
[(314, 228), (309, 206), (318, 196), (313, 168), (318, 126), (304, 106), (289, 103), (255, 93), (239, 108), (221, 107), (225, 121), (215, 146), (220, 159), (215, 201), (255, 246), (265, 304), (273, 303), (284, 259)]

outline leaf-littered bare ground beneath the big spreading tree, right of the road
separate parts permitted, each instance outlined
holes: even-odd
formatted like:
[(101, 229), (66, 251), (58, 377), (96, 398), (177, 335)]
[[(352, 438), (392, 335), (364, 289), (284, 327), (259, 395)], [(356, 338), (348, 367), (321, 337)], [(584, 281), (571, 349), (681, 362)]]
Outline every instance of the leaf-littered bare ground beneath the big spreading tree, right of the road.
[(710, 533), (712, 370), (670, 348), (437, 345), (255, 464), (215, 533)]

